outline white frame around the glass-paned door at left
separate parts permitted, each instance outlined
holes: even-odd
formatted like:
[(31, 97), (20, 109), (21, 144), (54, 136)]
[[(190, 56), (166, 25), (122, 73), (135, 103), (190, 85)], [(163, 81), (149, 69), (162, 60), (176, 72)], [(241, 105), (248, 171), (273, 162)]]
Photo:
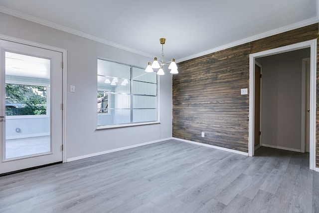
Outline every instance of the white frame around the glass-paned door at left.
[(33, 41), (28, 41), (20, 38), (15, 38), (7, 35), (0, 34), (0, 39), (7, 40), (11, 42), (16, 42), (20, 44), (25, 44), (29, 46), (39, 47), (43, 49), (53, 50), (62, 53), (62, 162), (67, 162), (67, 122), (66, 122), (66, 112), (67, 112), (67, 50), (59, 47), (54, 47), (46, 44), (36, 43)]

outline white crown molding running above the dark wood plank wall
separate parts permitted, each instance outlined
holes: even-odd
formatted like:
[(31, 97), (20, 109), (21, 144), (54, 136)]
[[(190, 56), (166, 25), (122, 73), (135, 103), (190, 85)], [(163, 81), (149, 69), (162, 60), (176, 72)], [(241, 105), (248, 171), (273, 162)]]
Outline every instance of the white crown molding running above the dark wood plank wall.
[[(318, 10), (318, 12), (319, 12), (319, 10)], [(184, 58), (180, 58), (180, 59), (176, 60), (176, 63), (182, 62), (182, 61), (186, 61), (186, 60), (190, 60), (190, 59), (193, 59), (193, 58), (197, 58), (197, 57), (200, 57), (200, 56), (203, 56), (203, 55), (207, 55), (207, 54), (210, 54), (210, 53), (213, 53), (213, 52), (221, 51), (223, 49), (227, 49), (227, 48), (230, 48), (230, 47), (238, 46), (238, 45), (241, 45), (241, 44), (244, 44), (244, 43), (252, 42), (252, 41), (255, 41), (255, 40), (258, 40), (258, 39), (261, 39), (261, 38), (265, 38), (265, 37), (269, 37), (269, 36), (272, 36), (272, 35), (276, 35), (276, 34), (279, 34), (279, 33), (282, 33), (282, 32), (287, 32), (289, 30), (297, 29), (297, 28), (300, 28), (300, 27), (303, 27), (303, 26), (307, 26), (307, 25), (310, 25), (310, 24), (318, 23), (319, 22), (318, 14), (317, 14), (317, 17), (314, 17), (314, 18), (311, 18), (311, 19), (307, 19), (307, 20), (304, 20), (304, 21), (301, 21), (301, 22), (298, 22), (298, 23), (294, 23), (294, 24), (291, 24), (291, 25), (287, 25), (287, 26), (284, 26), (284, 27), (273, 29), (273, 30), (270, 30), (270, 31), (267, 31), (267, 32), (263, 32), (263, 33), (260, 33), (260, 34), (257, 34), (257, 35), (254, 35), (254, 36), (251, 36), (251, 37), (248, 37), (248, 38), (244, 38), (244, 39), (241, 39), (241, 40), (238, 40), (238, 41), (235, 41), (235, 42), (231, 42), (231, 43), (228, 43), (228, 44), (225, 44), (225, 45), (213, 48), (213, 49), (209, 49), (209, 50), (206, 50), (206, 51), (203, 51), (203, 52), (199, 52), (199, 53), (196, 53), (196, 54), (184, 57)]]

